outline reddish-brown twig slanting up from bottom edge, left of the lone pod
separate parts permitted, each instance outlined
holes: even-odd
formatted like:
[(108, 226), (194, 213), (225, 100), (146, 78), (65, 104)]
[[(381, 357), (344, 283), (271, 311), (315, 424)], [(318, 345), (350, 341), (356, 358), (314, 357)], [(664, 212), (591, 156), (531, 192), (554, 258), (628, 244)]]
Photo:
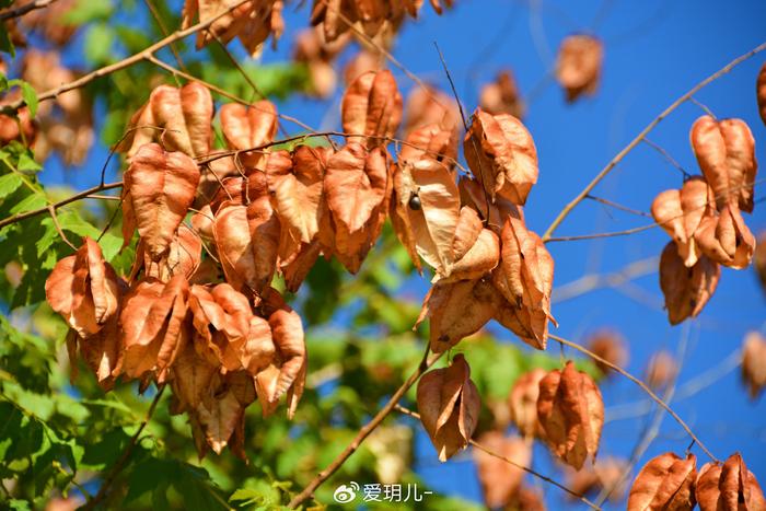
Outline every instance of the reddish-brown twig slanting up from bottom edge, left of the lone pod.
[(348, 460), (348, 457), (353, 454), (357, 449), (359, 449), (359, 445), (364, 441), (365, 438), (374, 431), (378, 426), (385, 419), (388, 414), (394, 409), (394, 406), (399, 402), (402, 396), (405, 395), (405, 393), (415, 385), (415, 383), (420, 379), (420, 376), (430, 368), (441, 357), (444, 355), (444, 352), (441, 352), (434, 357), (432, 357), (430, 360), (428, 358), (428, 347), (426, 348), (426, 352), (423, 353), (422, 360), (418, 364), (417, 369), (413, 372), (413, 374), (409, 375), (409, 378), (394, 392), (394, 394), (391, 396), (391, 398), (386, 402), (386, 404), (383, 406), (383, 408), (375, 414), (375, 416), (370, 420), (368, 423), (365, 423), (357, 433), (357, 435), (353, 438), (351, 443), (349, 443), (344, 451), (338, 454), (333, 462), (327, 465), (325, 469), (320, 472), (307, 485), (303, 490), (301, 490), (300, 493), (298, 493), (295, 497), (290, 500), (290, 503), (288, 504), (289, 508), (295, 509), (301, 503), (305, 502), (307, 499), (310, 499), (313, 495), (314, 491), (316, 491), (316, 488), (320, 487), (329, 476), (332, 476), (340, 466)]

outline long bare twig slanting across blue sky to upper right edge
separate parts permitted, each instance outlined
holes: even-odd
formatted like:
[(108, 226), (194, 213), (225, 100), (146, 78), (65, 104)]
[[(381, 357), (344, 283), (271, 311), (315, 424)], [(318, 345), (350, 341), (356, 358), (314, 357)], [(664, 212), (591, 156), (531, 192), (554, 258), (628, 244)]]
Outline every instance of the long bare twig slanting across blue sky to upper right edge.
[(764, 49), (766, 49), (766, 43), (762, 43), (761, 45), (758, 45), (758, 46), (756, 46), (755, 48), (751, 49), (751, 50), (747, 51), (746, 54), (741, 55), (740, 57), (736, 57), (734, 60), (732, 60), (731, 62), (727, 63), (723, 68), (721, 68), (721, 69), (719, 69), (718, 71), (716, 71), (715, 73), (710, 74), (708, 78), (706, 78), (706, 79), (703, 80), (701, 82), (697, 83), (697, 84), (696, 84), (695, 86), (693, 86), (687, 93), (685, 93), (684, 95), (682, 95), (681, 97), (678, 97), (677, 100), (675, 100), (668, 108), (665, 108), (665, 109), (664, 109), (660, 115), (658, 115), (651, 123), (649, 123), (649, 125), (647, 125), (647, 127), (643, 128), (643, 130), (641, 130), (641, 132), (638, 133), (638, 135), (636, 136), (636, 138), (634, 138), (634, 139), (630, 141), (630, 143), (628, 143), (622, 151), (619, 151), (619, 152), (617, 153), (617, 155), (614, 156), (614, 158), (612, 159), (612, 161), (610, 161), (610, 162), (606, 164), (606, 166), (605, 166), (604, 169), (602, 169), (602, 171), (599, 172), (599, 174), (596, 174), (596, 176), (582, 189), (582, 191), (580, 191), (569, 204), (567, 204), (567, 206), (564, 207), (564, 209), (558, 213), (558, 216), (554, 219), (554, 221), (550, 223), (550, 225), (548, 227), (548, 229), (545, 231), (545, 234), (543, 234), (543, 241), (547, 241), (547, 240), (550, 239), (550, 236), (553, 235), (553, 233), (554, 233), (554, 232), (556, 231), (556, 229), (561, 224), (561, 222), (564, 221), (564, 219), (566, 219), (566, 218), (569, 216), (569, 213), (571, 212), (571, 210), (574, 209), (574, 208), (577, 207), (577, 205), (579, 205), (579, 204), (582, 201), (582, 199), (584, 199), (585, 196), (587, 196), (588, 194), (590, 194), (591, 190), (592, 190), (593, 188), (595, 188), (595, 186), (596, 186), (599, 183), (601, 183), (601, 181), (602, 181), (604, 177), (606, 177), (606, 175), (607, 175), (610, 172), (612, 172), (612, 170), (613, 170), (615, 166), (617, 166), (617, 164), (618, 164), (619, 162), (622, 162), (623, 159), (624, 159), (630, 151), (632, 151), (632, 150), (636, 148), (636, 146), (638, 146), (638, 144), (641, 142), (641, 140), (643, 140), (643, 138), (646, 138), (646, 136), (647, 136), (652, 129), (654, 129), (654, 127), (655, 127), (657, 125), (659, 125), (659, 124), (662, 121), (662, 119), (664, 119), (665, 117), (668, 117), (671, 113), (673, 113), (673, 111), (675, 111), (678, 106), (681, 106), (684, 102), (686, 102), (689, 97), (692, 97), (693, 95), (695, 95), (698, 91), (700, 91), (701, 89), (704, 89), (706, 85), (708, 85), (709, 83), (716, 81), (717, 79), (719, 79), (719, 78), (722, 77), (723, 74), (726, 74), (726, 73), (728, 73), (729, 71), (731, 71), (734, 67), (736, 67), (736, 66), (740, 65), (741, 62), (747, 60), (748, 58), (751, 58), (752, 56), (754, 56), (754, 55), (756, 55), (756, 54), (763, 51)]

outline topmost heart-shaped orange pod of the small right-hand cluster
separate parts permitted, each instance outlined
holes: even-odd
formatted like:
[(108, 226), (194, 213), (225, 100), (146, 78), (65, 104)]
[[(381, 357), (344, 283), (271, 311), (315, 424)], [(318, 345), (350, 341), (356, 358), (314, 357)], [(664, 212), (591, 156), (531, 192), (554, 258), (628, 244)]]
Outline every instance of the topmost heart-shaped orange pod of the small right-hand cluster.
[(753, 211), (753, 183), (758, 164), (755, 140), (742, 119), (716, 120), (704, 115), (695, 120), (689, 133), (699, 167), (723, 211), (732, 204), (742, 211)]

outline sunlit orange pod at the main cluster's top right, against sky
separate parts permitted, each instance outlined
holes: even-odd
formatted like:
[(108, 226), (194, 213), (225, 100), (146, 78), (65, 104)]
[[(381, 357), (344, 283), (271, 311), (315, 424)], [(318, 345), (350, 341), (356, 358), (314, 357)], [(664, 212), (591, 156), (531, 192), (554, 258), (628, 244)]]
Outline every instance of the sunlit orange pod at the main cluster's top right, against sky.
[(477, 108), (463, 141), (474, 177), (490, 197), (523, 206), (537, 183), (537, 150), (532, 135), (512, 115), (490, 115)]

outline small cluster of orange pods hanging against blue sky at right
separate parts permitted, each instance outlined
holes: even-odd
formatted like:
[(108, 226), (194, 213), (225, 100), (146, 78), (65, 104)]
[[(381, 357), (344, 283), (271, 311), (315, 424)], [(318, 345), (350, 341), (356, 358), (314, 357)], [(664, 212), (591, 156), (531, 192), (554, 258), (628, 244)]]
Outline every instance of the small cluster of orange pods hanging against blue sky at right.
[(654, 220), (673, 237), (660, 260), (671, 324), (699, 314), (716, 291), (719, 265), (745, 268), (755, 252), (755, 236), (742, 216), (753, 211), (757, 172), (750, 128), (740, 119), (706, 115), (694, 123), (690, 140), (703, 175), (652, 202)]

